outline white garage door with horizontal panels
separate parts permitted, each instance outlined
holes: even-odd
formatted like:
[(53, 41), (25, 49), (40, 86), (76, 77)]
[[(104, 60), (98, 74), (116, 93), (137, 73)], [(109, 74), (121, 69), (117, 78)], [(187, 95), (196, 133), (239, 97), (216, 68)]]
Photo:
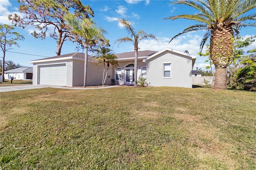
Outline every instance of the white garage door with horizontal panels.
[(39, 84), (66, 86), (66, 64), (41, 65)]

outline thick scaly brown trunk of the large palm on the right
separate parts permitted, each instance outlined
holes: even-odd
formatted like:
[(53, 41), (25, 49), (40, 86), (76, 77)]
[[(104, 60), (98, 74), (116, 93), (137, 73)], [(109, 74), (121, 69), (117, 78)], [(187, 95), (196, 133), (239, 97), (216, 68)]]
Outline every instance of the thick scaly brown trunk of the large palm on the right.
[(215, 81), (212, 89), (227, 89), (226, 68), (233, 55), (234, 36), (231, 28), (212, 30), (210, 57), (215, 65)]

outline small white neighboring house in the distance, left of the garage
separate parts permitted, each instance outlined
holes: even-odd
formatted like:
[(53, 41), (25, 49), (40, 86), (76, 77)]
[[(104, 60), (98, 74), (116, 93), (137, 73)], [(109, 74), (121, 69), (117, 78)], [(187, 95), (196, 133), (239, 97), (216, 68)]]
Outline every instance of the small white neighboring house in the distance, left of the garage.
[(4, 79), (26, 80), (33, 77), (33, 67), (19, 67), (16, 69), (7, 70), (4, 72)]

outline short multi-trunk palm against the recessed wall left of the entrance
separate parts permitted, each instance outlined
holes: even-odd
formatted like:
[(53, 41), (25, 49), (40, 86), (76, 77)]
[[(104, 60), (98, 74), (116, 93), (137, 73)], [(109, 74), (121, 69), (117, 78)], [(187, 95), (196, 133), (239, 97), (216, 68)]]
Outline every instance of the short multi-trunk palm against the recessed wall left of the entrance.
[[(119, 66), (118, 65), (118, 61), (116, 60), (117, 57), (114, 53), (112, 53), (112, 50), (106, 47), (100, 47), (99, 49), (96, 49), (97, 52), (97, 56), (95, 57), (95, 59), (98, 61), (98, 64), (102, 64), (104, 65), (104, 70), (103, 70), (103, 76), (102, 76), (102, 85), (106, 85), (106, 78), (108, 75), (108, 68), (111, 65), (114, 65), (115, 67)], [(105, 75), (105, 68), (106, 68), (106, 64), (107, 64), (107, 72), (106, 72), (106, 76), (104, 79), (104, 75)]]

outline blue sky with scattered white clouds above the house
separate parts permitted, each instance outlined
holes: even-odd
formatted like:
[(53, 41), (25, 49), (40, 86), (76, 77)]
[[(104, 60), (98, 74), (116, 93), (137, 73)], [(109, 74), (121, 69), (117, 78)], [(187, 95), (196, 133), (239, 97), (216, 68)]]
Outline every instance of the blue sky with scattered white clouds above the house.
[[(139, 43), (140, 50), (160, 51), (166, 47), (182, 51), (188, 50), (190, 54), (198, 56), (200, 42), (205, 31), (197, 31), (184, 34), (171, 43), (170, 39), (182, 32), (188, 26), (194, 25), (196, 22), (184, 19), (174, 21), (163, 20), (166, 17), (176, 16), (179, 14), (196, 14), (198, 11), (184, 5), (170, 5), (170, 0), (81, 0), (84, 5), (89, 5), (94, 11), (94, 21), (108, 32), (105, 37), (110, 40), (110, 48), (115, 53), (133, 51), (131, 43), (114, 42), (118, 38), (128, 36), (126, 30), (117, 22), (118, 19), (126, 19), (132, 22), (136, 31), (144, 30), (147, 34), (154, 34), (158, 38), (155, 40), (144, 40)], [(0, 1), (0, 23), (10, 24), (8, 20), (9, 14), (20, 14), (18, 12), (17, 0), (1, 0)], [(254, 11), (255, 12), (255, 11)], [(21, 14), (20, 14), (21, 15)], [(22, 29), (16, 27), (15, 31), (24, 36), (24, 41), (19, 41), (20, 47), (11, 47), (13, 49), (6, 52), (6, 60), (14, 61), (23, 66), (32, 67), (31, 63), (35, 59), (45, 57), (53, 57), (56, 52), (56, 40), (47, 37), (45, 40), (36, 39), (31, 32), (34, 27)], [(242, 28), (240, 36), (248, 37), (256, 35), (256, 29), (253, 27)], [(66, 41), (62, 47), (61, 54), (76, 52), (76, 43)], [(256, 43), (250, 45), (249, 49), (256, 48)], [(82, 52), (80, 50), (79, 52)], [(24, 53), (24, 54), (23, 54)], [(31, 55), (28, 55), (31, 54)], [(0, 51), (0, 57), (3, 53)], [(39, 56), (38, 56), (39, 55)], [(0, 58), (2, 59), (2, 58)], [(207, 63), (204, 63), (206, 58), (197, 57), (194, 69), (196, 67), (205, 70)]]

